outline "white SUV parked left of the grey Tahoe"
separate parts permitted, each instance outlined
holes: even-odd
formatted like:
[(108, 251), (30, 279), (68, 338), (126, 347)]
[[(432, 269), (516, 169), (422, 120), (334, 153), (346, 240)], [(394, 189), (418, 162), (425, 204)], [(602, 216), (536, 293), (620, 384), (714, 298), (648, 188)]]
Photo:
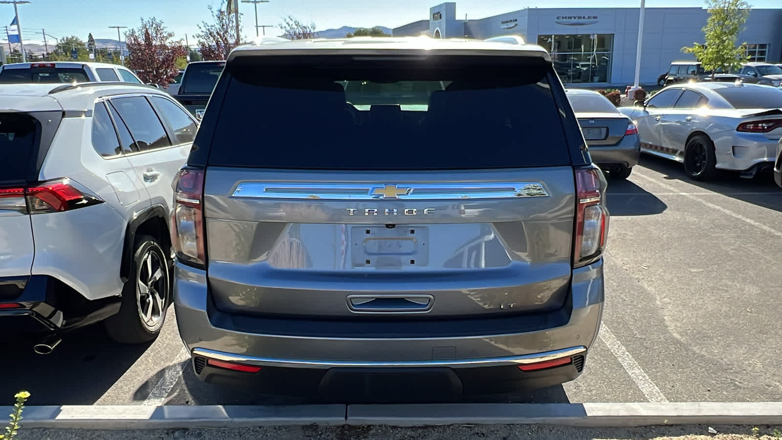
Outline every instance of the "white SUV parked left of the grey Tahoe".
[(171, 182), (198, 123), (146, 85), (0, 85), (0, 327), (106, 320), (151, 341), (170, 305)]

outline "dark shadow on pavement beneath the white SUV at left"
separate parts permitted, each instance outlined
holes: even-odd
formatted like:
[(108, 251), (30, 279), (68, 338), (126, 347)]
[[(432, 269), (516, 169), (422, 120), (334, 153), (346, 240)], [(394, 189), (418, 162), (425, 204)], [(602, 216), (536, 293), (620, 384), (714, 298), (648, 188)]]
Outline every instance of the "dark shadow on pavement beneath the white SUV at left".
[(63, 335), (49, 355), (33, 352), (36, 340), (4, 343), (6, 373), (0, 376), (0, 399), (30, 391), (28, 405), (92, 405), (113, 386), (149, 344), (118, 344), (101, 324)]

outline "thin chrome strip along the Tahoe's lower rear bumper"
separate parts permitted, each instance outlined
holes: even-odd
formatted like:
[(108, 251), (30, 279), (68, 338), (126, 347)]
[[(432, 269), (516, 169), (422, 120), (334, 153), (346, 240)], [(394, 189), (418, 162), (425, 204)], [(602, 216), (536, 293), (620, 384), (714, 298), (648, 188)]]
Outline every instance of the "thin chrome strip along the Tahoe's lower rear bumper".
[(587, 351), (587, 347), (578, 346), (563, 348), (552, 352), (533, 353), (531, 355), (516, 355), (502, 358), (481, 359), (443, 359), (430, 361), (327, 361), (310, 359), (274, 359), (259, 358), (247, 355), (234, 355), (226, 352), (217, 352), (207, 348), (193, 348), (192, 355), (217, 359), (224, 362), (238, 362), (247, 365), (260, 366), (287, 366), (298, 368), (332, 368), (336, 366), (349, 367), (404, 367), (404, 366), (501, 366), (519, 365), (536, 362), (545, 362), (553, 359), (579, 355)]

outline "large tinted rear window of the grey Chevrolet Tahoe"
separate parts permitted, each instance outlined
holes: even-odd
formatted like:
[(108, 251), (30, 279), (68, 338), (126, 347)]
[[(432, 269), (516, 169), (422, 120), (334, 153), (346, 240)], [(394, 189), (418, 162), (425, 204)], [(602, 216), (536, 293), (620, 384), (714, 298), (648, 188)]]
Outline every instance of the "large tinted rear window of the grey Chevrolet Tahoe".
[[(231, 65), (210, 165), (471, 169), (570, 164), (550, 63), (264, 56)], [(554, 81), (549, 81), (554, 78)], [(208, 117), (208, 116), (207, 116)]]

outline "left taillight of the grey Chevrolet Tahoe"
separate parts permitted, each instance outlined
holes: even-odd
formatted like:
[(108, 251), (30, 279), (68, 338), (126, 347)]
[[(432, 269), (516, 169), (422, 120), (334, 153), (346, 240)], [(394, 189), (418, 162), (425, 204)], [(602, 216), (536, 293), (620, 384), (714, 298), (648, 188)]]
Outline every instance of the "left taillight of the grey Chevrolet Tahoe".
[(171, 243), (177, 258), (203, 267), (206, 261), (203, 229), (204, 172), (183, 168), (174, 179), (174, 209), (171, 211)]

